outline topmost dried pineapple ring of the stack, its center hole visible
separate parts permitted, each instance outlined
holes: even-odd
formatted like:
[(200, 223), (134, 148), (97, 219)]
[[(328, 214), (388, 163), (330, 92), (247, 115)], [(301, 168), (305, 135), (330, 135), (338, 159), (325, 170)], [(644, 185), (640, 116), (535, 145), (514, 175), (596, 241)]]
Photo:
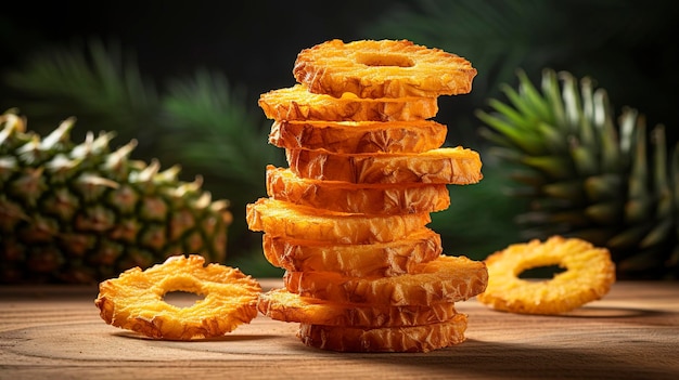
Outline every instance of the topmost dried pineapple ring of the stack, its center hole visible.
[(309, 91), (335, 97), (406, 97), (465, 94), (476, 69), (456, 54), (411, 41), (331, 40), (297, 55), (293, 75)]

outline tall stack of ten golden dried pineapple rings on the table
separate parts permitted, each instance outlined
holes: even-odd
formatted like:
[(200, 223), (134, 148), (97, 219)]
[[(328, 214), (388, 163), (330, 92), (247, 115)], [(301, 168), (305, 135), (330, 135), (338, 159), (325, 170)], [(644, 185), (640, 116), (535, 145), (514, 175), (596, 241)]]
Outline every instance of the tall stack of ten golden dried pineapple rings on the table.
[(482, 293), (484, 262), (444, 254), (427, 227), (447, 185), (483, 179), (479, 155), (443, 147), (431, 120), (440, 95), (471, 91), (476, 69), (406, 40), (331, 40), (303, 50), (291, 88), (261, 94), (269, 143), (287, 168), (266, 168), (268, 197), (247, 205), (284, 288), (259, 298), (299, 323), (306, 345), (343, 352), (428, 352), (464, 341), (456, 302)]

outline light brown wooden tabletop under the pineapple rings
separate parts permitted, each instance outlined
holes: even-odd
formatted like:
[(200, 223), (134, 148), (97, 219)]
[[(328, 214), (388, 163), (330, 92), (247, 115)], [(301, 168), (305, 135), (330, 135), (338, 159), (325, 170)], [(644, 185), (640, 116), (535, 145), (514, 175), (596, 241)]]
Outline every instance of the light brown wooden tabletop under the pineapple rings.
[[(281, 286), (262, 279), (262, 287)], [(259, 315), (220, 339), (155, 341), (106, 325), (95, 287), (0, 287), (2, 379), (679, 379), (679, 284), (617, 283), (564, 316), (458, 303), (467, 340), (422, 354), (307, 348)]]

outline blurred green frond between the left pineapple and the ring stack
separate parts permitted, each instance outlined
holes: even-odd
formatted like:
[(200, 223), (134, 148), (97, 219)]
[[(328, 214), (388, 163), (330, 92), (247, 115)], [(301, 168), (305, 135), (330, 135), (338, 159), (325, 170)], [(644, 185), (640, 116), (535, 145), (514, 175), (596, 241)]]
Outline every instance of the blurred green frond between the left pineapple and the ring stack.
[(266, 165), (282, 165), (284, 157), (267, 144), (269, 130), (246, 99), (221, 73), (200, 69), (193, 78), (170, 81), (163, 100), (168, 126), (163, 146), (220, 182), (251, 187), (252, 197), (265, 188)]

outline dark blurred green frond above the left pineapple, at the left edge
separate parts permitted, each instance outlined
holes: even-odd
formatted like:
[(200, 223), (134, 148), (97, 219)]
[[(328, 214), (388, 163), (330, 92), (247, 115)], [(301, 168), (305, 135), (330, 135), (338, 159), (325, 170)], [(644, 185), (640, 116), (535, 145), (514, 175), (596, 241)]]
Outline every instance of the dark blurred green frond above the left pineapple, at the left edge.
[[(115, 42), (106, 45), (92, 39), (46, 49), (28, 57), (21, 68), (4, 73), (2, 79), (14, 94), (2, 102), (30, 114), (37, 131), (48, 131), (73, 116), (80, 126), (116, 131), (124, 141), (159, 128), (155, 120), (157, 90), (144, 80), (134, 56)], [(85, 132), (74, 130), (74, 134)], [(153, 141), (138, 140), (140, 150), (150, 148)]]

